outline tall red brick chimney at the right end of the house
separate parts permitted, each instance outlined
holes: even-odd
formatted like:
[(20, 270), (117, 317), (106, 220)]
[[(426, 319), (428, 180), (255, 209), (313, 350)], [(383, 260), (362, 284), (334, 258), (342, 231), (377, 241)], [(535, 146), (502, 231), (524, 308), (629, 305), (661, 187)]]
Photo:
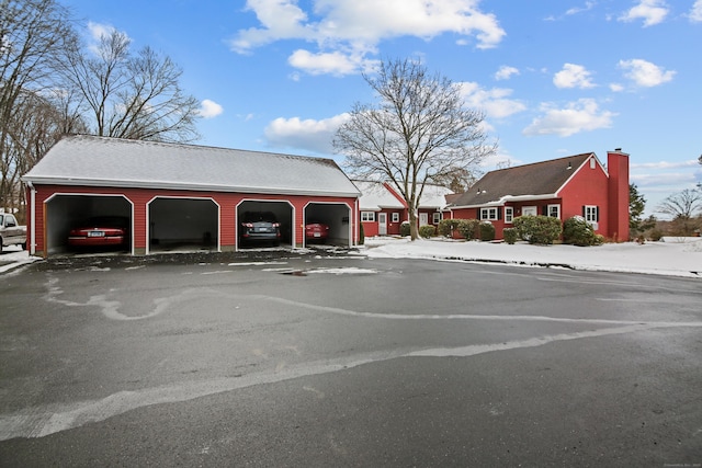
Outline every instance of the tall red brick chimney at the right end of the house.
[(629, 155), (622, 148), (607, 152), (608, 226), (615, 242), (629, 241)]

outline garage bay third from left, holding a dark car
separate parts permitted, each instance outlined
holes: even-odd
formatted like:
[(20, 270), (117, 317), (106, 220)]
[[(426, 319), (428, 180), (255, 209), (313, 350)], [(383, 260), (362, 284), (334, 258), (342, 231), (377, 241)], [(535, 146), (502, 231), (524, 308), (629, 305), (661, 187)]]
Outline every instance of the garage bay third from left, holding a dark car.
[(290, 248), (295, 242), (293, 207), (287, 202), (245, 201), (237, 206), (236, 218), (237, 249)]

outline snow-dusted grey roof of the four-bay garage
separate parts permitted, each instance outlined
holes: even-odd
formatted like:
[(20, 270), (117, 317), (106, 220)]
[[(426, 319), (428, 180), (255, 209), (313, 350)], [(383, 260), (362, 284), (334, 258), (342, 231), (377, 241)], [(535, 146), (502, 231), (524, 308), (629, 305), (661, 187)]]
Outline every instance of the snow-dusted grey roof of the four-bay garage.
[(23, 180), (60, 185), (360, 195), (331, 159), (87, 135), (59, 140)]

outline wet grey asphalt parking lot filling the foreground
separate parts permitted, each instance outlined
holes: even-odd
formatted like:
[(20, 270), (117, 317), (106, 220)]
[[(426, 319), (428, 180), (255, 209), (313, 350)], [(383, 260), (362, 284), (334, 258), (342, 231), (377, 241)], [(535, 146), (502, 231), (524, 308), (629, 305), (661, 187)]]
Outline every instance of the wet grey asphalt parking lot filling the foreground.
[(3, 465), (702, 463), (699, 281), (219, 260), (0, 277)]

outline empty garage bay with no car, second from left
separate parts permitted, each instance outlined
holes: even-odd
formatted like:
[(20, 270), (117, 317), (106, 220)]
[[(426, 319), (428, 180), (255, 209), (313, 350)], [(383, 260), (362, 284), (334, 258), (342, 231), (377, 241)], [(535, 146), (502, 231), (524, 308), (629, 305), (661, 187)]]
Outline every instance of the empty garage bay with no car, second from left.
[(149, 252), (219, 250), (219, 205), (212, 198), (156, 197), (147, 213)]

